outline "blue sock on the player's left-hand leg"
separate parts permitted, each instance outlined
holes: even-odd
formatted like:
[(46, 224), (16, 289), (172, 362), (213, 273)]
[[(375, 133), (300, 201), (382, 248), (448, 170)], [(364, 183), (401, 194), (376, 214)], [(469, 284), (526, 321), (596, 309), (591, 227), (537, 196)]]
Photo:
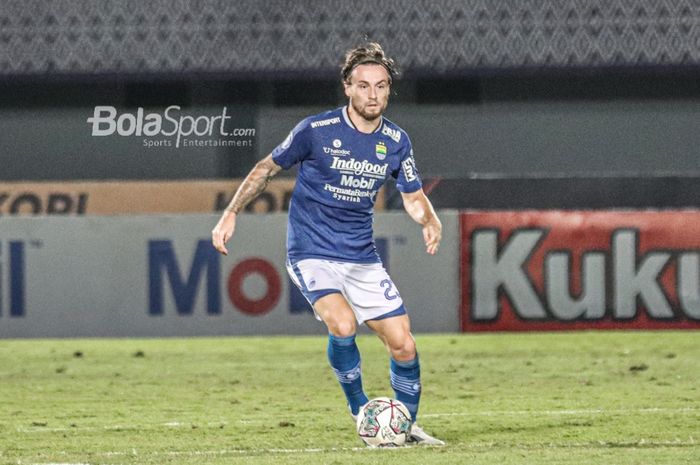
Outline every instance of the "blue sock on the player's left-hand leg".
[(366, 404), (368, 399), (362, 390), (362, 364), (355, 336), (336, 337), (329, 334), (328, 360), (340, 382), (340, 387), (343, 388), (350, 411), (353, 415), (357, 415), (360, 407)]

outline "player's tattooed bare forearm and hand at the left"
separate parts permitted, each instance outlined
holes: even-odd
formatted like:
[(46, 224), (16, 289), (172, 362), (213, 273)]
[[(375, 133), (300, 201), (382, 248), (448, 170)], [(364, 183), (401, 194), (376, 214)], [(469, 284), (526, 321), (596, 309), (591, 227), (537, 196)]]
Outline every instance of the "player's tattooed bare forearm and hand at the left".
[(272, 154), (260, 160), (250, 170), (211, 232), (211, 241), (216, 250), (228, 255), (226, 243), (236, 229), (236, 216), (253, 199), (262, 194), (273, 176), (281, 170), (282, 167), (272, 160)]

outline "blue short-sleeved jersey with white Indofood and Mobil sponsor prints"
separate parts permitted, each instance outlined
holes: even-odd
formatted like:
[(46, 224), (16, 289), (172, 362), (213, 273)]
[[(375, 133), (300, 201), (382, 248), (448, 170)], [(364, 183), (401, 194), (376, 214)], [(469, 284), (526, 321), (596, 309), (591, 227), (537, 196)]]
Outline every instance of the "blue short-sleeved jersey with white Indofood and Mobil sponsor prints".
[(389, 176), (401, 192), (421, 188), (403, 129), (382, 118), (375, 132), (365, 134), (355, 128), (346, 107), (301, 121), (272, 158), (284, 169), (299, 163), (287, 227), (292, 262), (379, 262), (372, 237), (377, 191)]

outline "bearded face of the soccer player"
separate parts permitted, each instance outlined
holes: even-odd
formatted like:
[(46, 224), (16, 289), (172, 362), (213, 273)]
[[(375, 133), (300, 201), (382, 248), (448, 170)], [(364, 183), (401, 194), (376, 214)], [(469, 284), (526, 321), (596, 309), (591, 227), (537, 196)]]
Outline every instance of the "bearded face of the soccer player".
[(357, 66), (345, 84), (345, 95), (352, 108), (364, 119), (379, 118), (389, 104), (389, 73), (378, 64)]

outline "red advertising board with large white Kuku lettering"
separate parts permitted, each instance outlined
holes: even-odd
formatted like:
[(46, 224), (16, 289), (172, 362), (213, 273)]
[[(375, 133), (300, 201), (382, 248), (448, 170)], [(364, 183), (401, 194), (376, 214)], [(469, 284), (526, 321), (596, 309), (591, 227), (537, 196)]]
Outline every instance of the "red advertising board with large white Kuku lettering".
[(465, 212), (462, 331), (700, 328), (700, 211)]

